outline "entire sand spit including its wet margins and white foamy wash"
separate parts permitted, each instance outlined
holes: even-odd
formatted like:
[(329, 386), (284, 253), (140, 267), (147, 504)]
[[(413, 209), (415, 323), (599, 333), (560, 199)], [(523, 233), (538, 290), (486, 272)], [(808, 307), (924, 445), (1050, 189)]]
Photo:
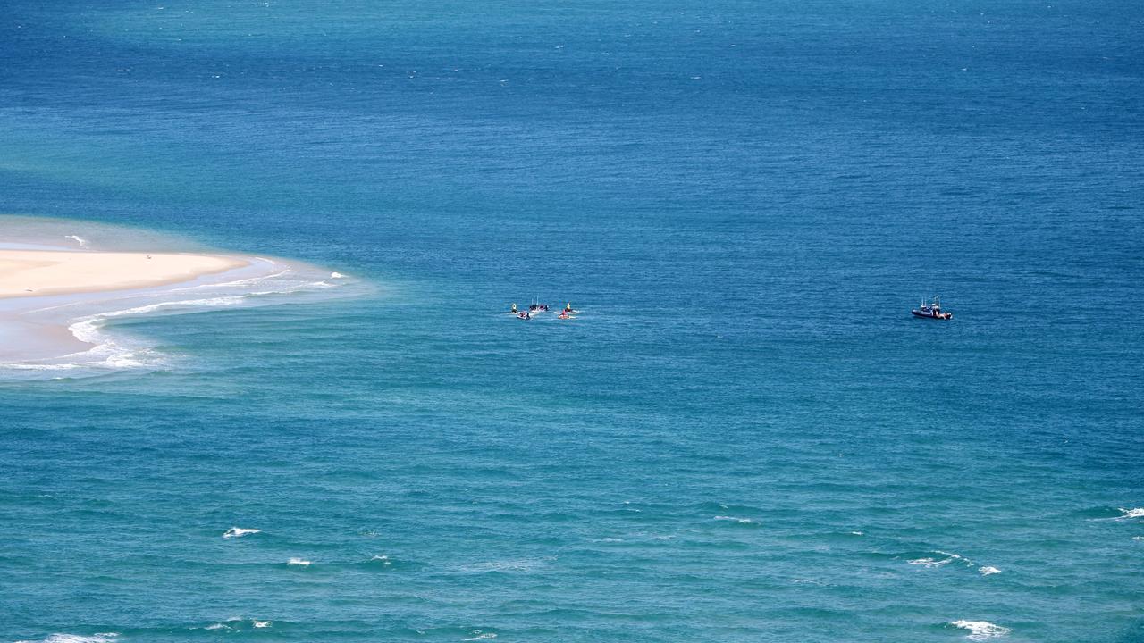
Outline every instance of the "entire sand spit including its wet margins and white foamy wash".
[(323, 301), (371, 291), (300, 261), (173, 252), (178, 246), (180, 240), (150, 231), (0, 216), (0, 378), (166, 367), (170, 356), (106, 327), (121, 317)]

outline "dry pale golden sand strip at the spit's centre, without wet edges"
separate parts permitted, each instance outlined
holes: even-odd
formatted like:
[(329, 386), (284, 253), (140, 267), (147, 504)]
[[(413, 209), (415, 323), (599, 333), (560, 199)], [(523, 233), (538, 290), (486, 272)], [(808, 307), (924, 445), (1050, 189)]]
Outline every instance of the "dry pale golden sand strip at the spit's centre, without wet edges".
[(6, 249), (0, 299), (162, 286), (248, 264), (207, 254)]

